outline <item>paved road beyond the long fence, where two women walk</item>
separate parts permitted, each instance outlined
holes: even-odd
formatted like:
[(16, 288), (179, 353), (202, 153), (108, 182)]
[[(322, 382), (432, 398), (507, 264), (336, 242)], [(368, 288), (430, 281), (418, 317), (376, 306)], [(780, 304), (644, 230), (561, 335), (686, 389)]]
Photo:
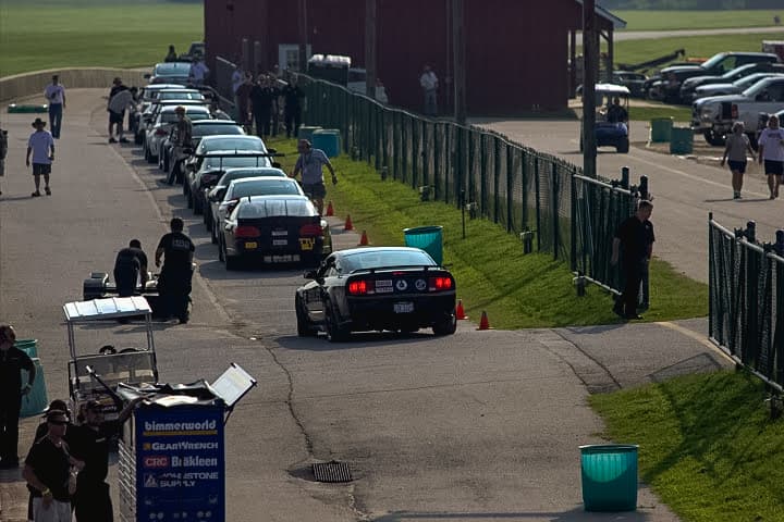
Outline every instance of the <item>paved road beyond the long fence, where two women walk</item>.
[[(471, 123), (571, 163), (583, 164), (578, 121), (475, 120)], [(709, 212), (730, 229), (756, 221), (758, 237), (775, 241), (775, 231), (784, 228), (784, 201), (768, 199), (767, 179), (760, 165), (749, 161), (744, 176), (744, 199), (733, 200), (730, 171), (719, 165), (723, 148), (703, 147), (702, 137), (695, 136), (694, 156), (671, 156), (662, 152), (666, 147), (648, 146), (648, 122), (633, 121), (630, 127), (629, 153), (600, 148), (597, 171), (603, 177), (615, 179), (621, 177), (621, 169), (628, 166), (634, 184), (639, 183), (639, 176), (648, 176), (653, 195), (651, 221), (657, 233), (654, 256), (689, 277), (707, 283)]]

